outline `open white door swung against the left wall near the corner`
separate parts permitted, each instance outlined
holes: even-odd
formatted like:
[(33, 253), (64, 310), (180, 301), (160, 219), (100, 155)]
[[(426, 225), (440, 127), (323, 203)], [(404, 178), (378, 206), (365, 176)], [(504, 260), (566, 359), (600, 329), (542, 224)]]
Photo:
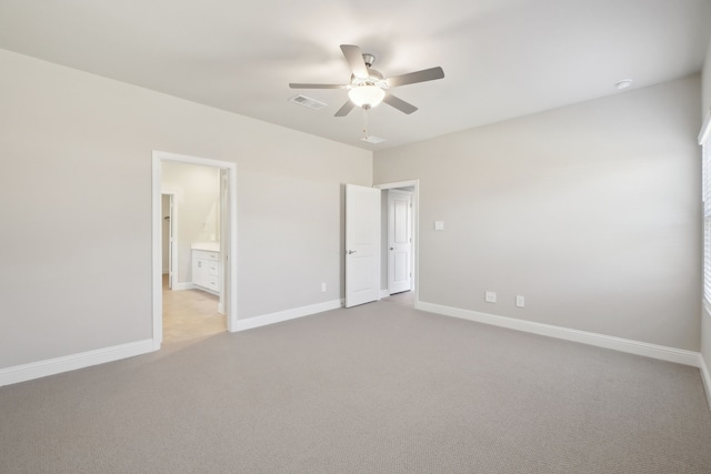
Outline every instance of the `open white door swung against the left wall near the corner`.
[(346, 185), (346, 307), (380, 295), (380, 190)]

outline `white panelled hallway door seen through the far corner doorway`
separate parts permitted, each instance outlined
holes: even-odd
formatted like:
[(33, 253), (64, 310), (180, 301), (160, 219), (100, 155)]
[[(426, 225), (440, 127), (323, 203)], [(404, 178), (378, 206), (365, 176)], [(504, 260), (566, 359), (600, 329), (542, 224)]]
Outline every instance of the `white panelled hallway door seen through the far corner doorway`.
[(412, 289), (412, 193), (388, 190), (388, 292)]

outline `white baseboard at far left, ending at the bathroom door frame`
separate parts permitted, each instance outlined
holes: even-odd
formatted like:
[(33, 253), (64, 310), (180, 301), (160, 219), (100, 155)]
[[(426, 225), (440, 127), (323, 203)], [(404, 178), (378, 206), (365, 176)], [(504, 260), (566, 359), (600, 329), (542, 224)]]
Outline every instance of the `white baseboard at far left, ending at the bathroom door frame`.
[(62, 372), (76, 371), (77, 369), (90, 365), (104, 364), (118, 361), (119, 359), (132, 357), (158, 351), (160, 344), (156, 345), (153, 340), (131, 342), (128, 344), (114, 345), (112, 347), (97, 349), (94, 351), (81, 352), (79, 354), (66, 355), (63, 357), (48, 359), (46, 361), (32, 362), (13, 367), (0, 369), (0, 386)]

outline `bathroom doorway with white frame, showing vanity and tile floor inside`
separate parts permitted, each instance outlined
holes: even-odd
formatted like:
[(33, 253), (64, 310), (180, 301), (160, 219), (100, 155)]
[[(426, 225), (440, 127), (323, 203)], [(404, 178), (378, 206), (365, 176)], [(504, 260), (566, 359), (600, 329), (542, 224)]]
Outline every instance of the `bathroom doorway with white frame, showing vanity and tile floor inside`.
[[(236, 181), (234, 163), (153, 152), (153, 343), (158, 347), (163, 341), (236, 330)], [(172, 201), (170, 213), (166, 195)], [(172, 238), (166, 239), (171, 231)]]

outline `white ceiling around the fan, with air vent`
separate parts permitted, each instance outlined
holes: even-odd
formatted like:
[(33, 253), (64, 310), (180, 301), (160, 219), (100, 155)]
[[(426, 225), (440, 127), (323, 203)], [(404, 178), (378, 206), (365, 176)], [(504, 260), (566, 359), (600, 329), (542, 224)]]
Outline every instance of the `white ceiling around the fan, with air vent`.
[[(701, 70), (711, 0), (0, 0), (0, 48), (356, 147), (380, 150), (623, 93)], [(440, 65), (444, 79), (334, 118), (339, 44), (385, 77)], [(313, 111), (288, 99), (328, 103)]]

